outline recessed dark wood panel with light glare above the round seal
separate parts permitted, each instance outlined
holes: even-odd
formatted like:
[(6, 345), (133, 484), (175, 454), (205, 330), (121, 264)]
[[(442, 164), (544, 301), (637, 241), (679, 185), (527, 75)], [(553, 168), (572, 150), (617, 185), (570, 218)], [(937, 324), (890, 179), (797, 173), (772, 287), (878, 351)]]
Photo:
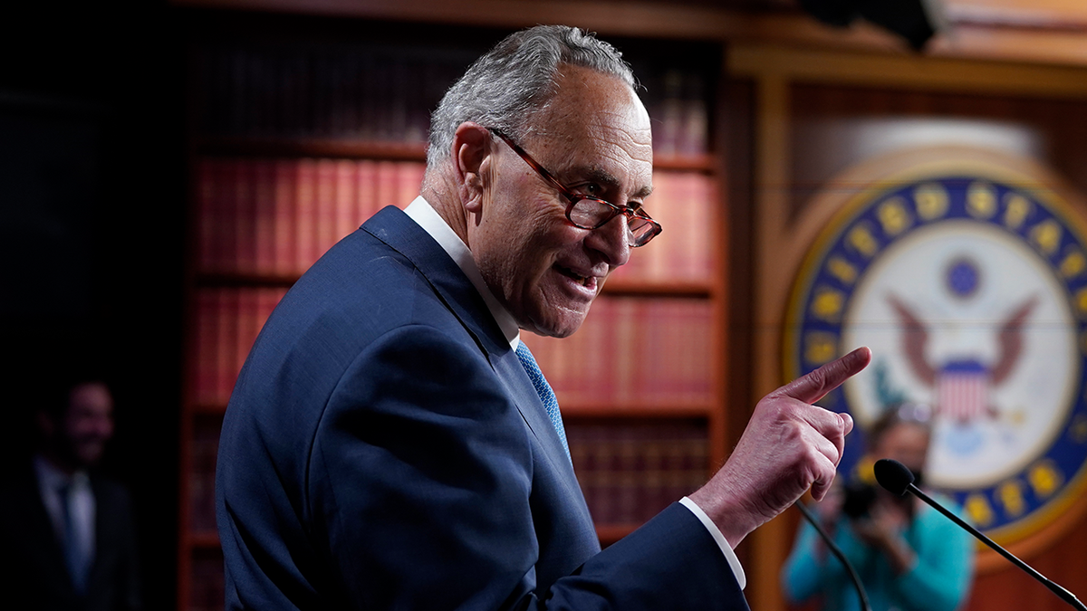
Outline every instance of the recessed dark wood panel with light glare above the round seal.
[(794, 216), (833, 176), (907, 145), (998, 148), (1036, 159), (1087, 192), (1083, 100), (815, 84), (794, 85), (790, 99)]

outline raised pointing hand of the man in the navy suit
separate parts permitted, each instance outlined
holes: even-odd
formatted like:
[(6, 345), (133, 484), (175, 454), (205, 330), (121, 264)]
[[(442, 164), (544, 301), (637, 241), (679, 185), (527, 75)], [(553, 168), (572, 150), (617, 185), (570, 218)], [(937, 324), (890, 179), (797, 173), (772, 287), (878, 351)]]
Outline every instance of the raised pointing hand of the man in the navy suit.
[(690, 496), (729, 545), (735, 547), (809, 488), (815, 500), (823, 498), (853, 420), (812, 403), (871, 360), (871, 350), (858, 348), (759, 401), (728, 461)]

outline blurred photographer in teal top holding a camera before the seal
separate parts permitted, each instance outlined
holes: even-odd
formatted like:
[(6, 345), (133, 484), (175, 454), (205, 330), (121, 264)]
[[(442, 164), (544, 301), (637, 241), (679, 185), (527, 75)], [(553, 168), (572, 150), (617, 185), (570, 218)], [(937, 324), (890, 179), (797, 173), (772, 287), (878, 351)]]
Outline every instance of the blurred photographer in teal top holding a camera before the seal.
[[(933, 410), (926, 404), (889, 408), (867, 432), (870, 460), (862, 462), (860, 482), (838, 477), (815, 506), (823, 528), (855, 569), (873, 611), (954, 611), (970, 590), (971, 536), (913, 495), (883, 489), (871, 474), (876, 460), (892, 459), (923, 487), (932, 427)], [(961, 514), (953, 501), (937, 498)], [(820, 600), (817, 608), (826, 611), (861, 609), (848, 571), (807, 522), (782, 570), (782, 587), (792, 604)]]

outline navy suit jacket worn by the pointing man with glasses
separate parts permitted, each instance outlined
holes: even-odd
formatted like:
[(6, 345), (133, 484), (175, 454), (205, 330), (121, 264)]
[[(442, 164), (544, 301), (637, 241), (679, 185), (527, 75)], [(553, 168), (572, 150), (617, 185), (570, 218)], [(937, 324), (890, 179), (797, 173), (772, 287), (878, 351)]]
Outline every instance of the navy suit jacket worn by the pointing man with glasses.
[(228, 609), (747, 609), (677, 503), (600, 551), (516, 354), (395, 208), (261, 331), (226, 411), (216, 509)]

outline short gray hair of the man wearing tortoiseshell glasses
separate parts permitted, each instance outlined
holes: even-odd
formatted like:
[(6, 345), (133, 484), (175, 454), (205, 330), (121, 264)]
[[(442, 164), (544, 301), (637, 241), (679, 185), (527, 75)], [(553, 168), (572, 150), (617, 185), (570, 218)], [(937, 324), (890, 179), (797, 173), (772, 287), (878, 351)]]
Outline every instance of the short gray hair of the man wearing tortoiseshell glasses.
[(634, 88), (630, 66), (614, 47), (563, 25), (539, 25), (511, 34), (472, 64), (446, 91), (430, 116), (427, 165), (449, 159), (457, 127), (471, 121), (523, 140), (535, 111), (554, 95), (559, 64), (615, 76)]

